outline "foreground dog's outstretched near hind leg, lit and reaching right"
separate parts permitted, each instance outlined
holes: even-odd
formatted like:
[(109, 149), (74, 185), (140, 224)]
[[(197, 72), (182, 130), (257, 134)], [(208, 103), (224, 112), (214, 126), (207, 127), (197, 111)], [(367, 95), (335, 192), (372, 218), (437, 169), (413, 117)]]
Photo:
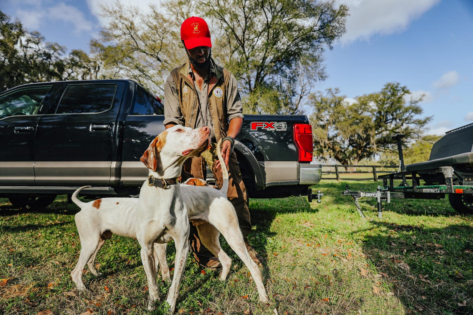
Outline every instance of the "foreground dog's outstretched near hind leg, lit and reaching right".
[[(225, 218), (225, 220), (222, 220), (222, 218)], [(243, 240), (243, 235), (238, 226), (238, 219), (233, 205), (228, 202), (228, 204), (218, 207), (218, 209), (214, 211), (210, 209), (209, 221), (222, 233), (228, 245), (235, 251), (236, 255), (240, 257), (251, 272), (256, 288), (258, 289), (260, 302), (269, 302), (266, 289), (264, 289), (261, 272), (250, 258), (250, 254), (248, 254), (248, 250), (245, 247), (245, 241)]]

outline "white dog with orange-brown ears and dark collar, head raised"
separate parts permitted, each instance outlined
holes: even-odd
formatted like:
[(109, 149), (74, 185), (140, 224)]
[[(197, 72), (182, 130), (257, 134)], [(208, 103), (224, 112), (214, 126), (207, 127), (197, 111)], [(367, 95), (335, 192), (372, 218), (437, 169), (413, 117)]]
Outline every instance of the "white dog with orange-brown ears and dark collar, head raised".
[[(175, 268), (166, 301), (170, 313), (175, 311), (179, 285), (189, 252), (189, 221), (197, 225), (202, 244), (219, 258), (222, 264), (220, 278), (226, 279), (231, 265), (230, 257), (219, 244), (221, 233), (251, 272), (260, 301), (269, 301), (260, 270), (246, 250), (235, 208), (227, 199), (227, 169), (221, 168), (224, 179), (221, 190), (209, 186), (175, 184), (181, 175), (184, 161), (208, 148), (209, 135), (208, 127), (192, 129), (174, 126), (160, 133), (140, 159), (149, 168), (149, 179), (140, 190), (136, 210), (136, 237), (141, 245), (141, 260), (148, 279), (149, 310), (154, 308), (158, 299), (153, 247), (156, 242), (167, 243), (173, 238), (176, 247)], [(224, 166), (219, 149), (217, 153), (221, 165)], [(276, 309), (274, 312), (277, 314)]]

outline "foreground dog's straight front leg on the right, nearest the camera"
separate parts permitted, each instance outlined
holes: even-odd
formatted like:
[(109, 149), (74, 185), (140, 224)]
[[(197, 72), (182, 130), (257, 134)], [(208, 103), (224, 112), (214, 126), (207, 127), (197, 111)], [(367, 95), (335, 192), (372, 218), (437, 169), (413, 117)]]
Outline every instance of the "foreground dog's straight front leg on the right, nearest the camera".
[[(187, 230), (184, 230), (185, 223), (187, 223)], [(181, 284), (182, 276), (184, 274), (185, 262), (189, 255), (189, 221), (185, 220), (181, 225), (183, 229), (180, 231), (173, 231), (171, 236), (174, 238), (176, 247), (176, 257), (174, 262), (174, 277), (167, 293), (166, 302), (169, 304), (169, 314), (174, 314), (177, 296), (179, 294), (179, 285)]]

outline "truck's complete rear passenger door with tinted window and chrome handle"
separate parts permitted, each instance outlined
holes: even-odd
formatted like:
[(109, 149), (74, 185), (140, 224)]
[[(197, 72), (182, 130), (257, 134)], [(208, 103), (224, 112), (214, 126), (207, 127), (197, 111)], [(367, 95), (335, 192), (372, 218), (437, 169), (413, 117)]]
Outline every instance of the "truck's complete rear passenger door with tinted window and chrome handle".
[(120, 81), (63, 85), (36, 130), (35, 184), (110, 185), (124, 87)]

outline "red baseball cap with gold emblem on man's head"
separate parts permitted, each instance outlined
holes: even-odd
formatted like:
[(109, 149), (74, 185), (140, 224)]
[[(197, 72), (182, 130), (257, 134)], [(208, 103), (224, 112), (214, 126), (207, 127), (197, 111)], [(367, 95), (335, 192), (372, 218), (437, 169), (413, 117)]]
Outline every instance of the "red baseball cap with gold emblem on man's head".
[(182, 22), (181, 39), (187, 49), (193, 49), (198, 46), (212, 47), (210, 42), (209, 26), (200, 17), (189, 17)]

